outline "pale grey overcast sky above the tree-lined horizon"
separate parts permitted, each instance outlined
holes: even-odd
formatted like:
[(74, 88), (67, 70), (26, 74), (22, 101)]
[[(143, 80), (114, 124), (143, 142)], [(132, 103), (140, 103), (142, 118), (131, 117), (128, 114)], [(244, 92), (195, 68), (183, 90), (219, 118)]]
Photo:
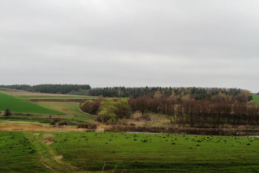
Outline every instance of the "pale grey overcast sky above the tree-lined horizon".
[(259, 91), (259, 0), (0, 0), (0, 84)]

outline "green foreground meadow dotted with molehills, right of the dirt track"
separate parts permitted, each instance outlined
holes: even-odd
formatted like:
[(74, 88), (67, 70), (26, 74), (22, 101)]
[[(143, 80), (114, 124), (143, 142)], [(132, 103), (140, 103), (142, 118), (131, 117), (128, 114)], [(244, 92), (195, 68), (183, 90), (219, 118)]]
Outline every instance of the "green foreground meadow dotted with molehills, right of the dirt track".
[(134, 140), (130, 133), (54, 134), (52, 147), (81, 170), (100, 170), (106, 161), (107, 170), (131, 173), (259, 172), (259, 138), (254, 137), (137, 134)]

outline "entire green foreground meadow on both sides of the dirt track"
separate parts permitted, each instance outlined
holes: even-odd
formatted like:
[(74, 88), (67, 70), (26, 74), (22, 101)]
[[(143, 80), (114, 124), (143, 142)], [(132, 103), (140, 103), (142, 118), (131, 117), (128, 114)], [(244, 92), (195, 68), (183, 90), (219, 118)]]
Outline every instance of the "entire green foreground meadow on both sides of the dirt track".
[[(114, 168), (114, 173), (122, 170), (126, 173), (259, 173), (259, 138), (256, 137), (136, 134), (134, 140), (133, 133), (52, 132), (56, 141), (47, 145), (41, 142), (42, 134), (1, 132), (1, 152), (5, 155), (0, 156), (0, 170), (11, 171), (21, 164), (15, 164), (21, 157), (36, 158), (39, 153), (59, 172), (100, 173), (105, 161), (104, 171), (110, 173)], [(31, 147), (36, 150), (34, 154), (30, 154), (29, 145), (35, 146)], [(23, 155), (12, 152), (23, 152)], [(62, 159), (57, 163), (58, 156)], [(7, 157), (13, 160), (8, 167), (2, 162)], [(29, 170), (26, 167), (31, 165), (27, 160), (22, 162), (23, 170)], [(42, 169), (37, 159), (34, 162), (31, 164), (38, 164), (37, 168)]]

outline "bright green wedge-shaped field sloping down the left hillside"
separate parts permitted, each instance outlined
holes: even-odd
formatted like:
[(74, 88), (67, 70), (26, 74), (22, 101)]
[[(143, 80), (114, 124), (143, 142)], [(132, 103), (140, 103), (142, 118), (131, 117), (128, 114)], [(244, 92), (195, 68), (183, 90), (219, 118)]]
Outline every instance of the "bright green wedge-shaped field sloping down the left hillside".
[(36, 103), (16, 98), (0, 92), (0, 111), (9, 108), (12, 112), (16, 113), (29, 113), (29, 114), (54, 114), (63, 115), (60, 111), (51, 110)]

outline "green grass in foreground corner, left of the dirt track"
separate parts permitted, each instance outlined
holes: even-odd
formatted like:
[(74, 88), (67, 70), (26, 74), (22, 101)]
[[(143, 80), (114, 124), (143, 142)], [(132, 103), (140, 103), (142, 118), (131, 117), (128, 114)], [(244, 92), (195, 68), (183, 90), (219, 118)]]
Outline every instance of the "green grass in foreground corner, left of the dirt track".
[(0, 132), (1, 173), (51, 173), (39, 161), (36, 147), (22, 132)]

